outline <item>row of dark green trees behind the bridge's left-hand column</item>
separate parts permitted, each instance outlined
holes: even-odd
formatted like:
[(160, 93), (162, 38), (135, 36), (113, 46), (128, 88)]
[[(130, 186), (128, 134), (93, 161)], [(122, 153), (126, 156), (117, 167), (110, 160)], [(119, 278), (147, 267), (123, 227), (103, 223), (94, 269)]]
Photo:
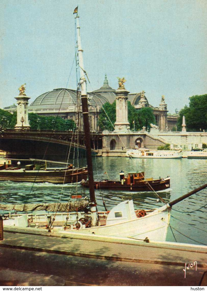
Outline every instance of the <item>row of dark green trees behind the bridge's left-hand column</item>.
[[(76, 129), (73, 120), (64, 120), (57, 116), (40, 116), (36, 113), (28, 114), (31, 129), (53, 129), (53, 130), (74, 130)], [(17, 123), (17, 112), (14, 114), (0, 109), (0, 125), (3, 128), (14, 128)]]

